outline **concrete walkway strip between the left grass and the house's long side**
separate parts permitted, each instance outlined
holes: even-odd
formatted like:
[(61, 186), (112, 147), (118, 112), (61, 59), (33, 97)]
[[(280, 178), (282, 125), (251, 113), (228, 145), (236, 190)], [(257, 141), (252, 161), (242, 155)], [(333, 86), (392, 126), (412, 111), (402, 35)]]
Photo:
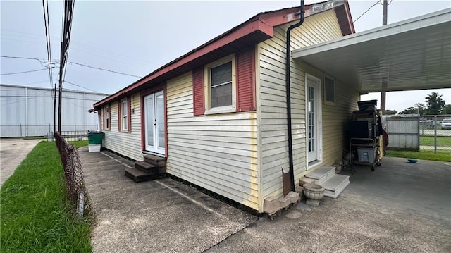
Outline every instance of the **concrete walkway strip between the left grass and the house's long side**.
[(170, 178), (135, 183), (132, 161), (79, 149), (85, 183), (97, 213), (93, 251), (203, 252), (257, 217)]

